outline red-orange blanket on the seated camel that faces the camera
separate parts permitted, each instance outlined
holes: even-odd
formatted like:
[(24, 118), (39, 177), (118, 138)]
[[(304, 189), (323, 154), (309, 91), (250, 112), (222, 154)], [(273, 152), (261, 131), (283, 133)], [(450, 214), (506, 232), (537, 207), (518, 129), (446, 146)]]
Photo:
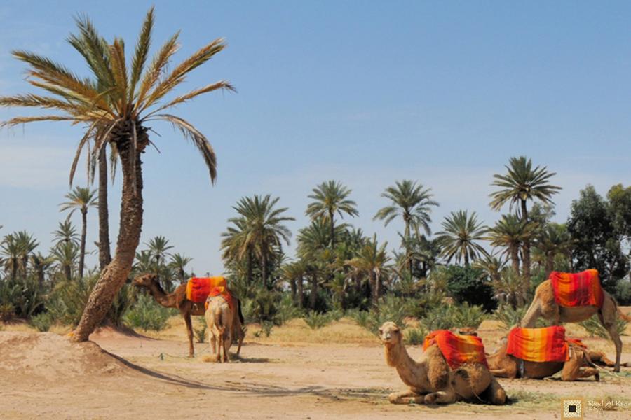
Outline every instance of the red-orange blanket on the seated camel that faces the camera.
[(445, 356), (447, 364), (452, 369), (457, 369), (464, 363), (482, 363), (489, 367), (480, 337), (456, 335), (449, 330), (437, 330), (425, 337), (423, 351), (432, 344), (437, 344), (442, 356)]

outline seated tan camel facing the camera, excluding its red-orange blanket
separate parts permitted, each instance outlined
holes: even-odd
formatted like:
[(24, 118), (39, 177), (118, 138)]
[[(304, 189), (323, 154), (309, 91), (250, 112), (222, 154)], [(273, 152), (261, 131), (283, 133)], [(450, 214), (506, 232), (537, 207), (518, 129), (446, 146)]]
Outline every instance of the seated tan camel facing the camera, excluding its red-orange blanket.
[(393, 322), (379, 328), (384, 343), (386, 363), (395, 367), (408, 391), (391, 393), (393, 404), (450, 404), (460, 400), (482, 400), (492, 404), (506, 403), (506, 392), (481, 363), (468, 363), (452, 370), (437, 345), (429, 346), (418, 361), (413, 360), (403, 345), (402, 333)]

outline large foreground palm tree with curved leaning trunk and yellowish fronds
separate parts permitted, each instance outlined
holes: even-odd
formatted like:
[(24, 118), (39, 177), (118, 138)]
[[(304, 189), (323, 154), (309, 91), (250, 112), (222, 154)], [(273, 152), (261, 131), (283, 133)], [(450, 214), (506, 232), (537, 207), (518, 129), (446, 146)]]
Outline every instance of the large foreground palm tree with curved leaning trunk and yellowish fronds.
[(62, 64), (46, 57), (14, 51), (13, 56), (30, 67), (27, 81), (45, 90), (50, 96), (18, 94), (0, 97), (0, 106), (29, 106), (60, 111), (53, 115), (15, 117), (4, 125), (67, 121), (86, 126), (86, 133), (79, 141), (71, 167), (71, 181), (79, 156), (90, 141), (93, 141), (93, 147), (88, 153), (90, 162), (98, 159), (107, 144), (118, 153), (123, 187), (116, 253), (110, 264), (102, 270), (76, 328), (75, 339), (86, 341), (125, 283), (140, 242), (143, 211), (140, 155), (151, 143), (149, 123), (156, 120), (166, 121), (190, 139), (200, 151), (210, 172), (210, 179), (215, 181), (217, 163), (208, 140), (191, 123), (165, 111), (201, 94), (222, 89), (233, 90), (233, 87), (221, 80), (163, 102), (166, 95), (181, 85), (191, 71), (208, 62), (226, 44), (221, 38), (216, 39), (180, 64), (170, 66), (170, 61), (179, 48), (178, 34), (175, 34), (156, 52), (145, 69), (154, 26), (153, 8), (149, 9), (143, 22), (133, 58), (129, 63), (125, 62), (125, 44), (121, 38), (114, 38), (112, 43), (108, 43), (87, 18), (79, 18), (77, 26), (79, 34), (70, 36), (69, 43), (86, 60), (92, 72), (91, 78), (80, 78)]

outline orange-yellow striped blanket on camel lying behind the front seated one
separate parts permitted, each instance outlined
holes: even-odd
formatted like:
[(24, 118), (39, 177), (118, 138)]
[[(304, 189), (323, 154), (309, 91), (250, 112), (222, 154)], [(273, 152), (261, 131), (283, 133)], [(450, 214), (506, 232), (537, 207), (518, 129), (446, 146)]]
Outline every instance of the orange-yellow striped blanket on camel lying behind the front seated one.
[(508, 333), (506, 353), (529, 362), (565, 362), (568, 360), (565, 328), (515, 327)]

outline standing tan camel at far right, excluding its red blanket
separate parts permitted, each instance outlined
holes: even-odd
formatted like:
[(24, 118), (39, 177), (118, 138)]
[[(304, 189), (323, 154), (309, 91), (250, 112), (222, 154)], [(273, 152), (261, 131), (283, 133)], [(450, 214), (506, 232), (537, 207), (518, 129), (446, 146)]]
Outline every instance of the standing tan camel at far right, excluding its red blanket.
[(528, 308), (528, 311), (520, 322), (520, 327), (534, 328), (538, 317), (543, 317), (552, 321), (552, 325), (559, 325), (565, 322), (581, 322), (589, 319), (594, 314), (598, 314), (600, 323), (609, 332), (613, 344), (616, 345), (616, 365), (613, 367), (614, 372), (620, 372), (620, 353), (622, 353), (622, 340), (618, 335), (616, 328), (616, 318), (618, 315), (631, 321), (631, 317), (626, 316), (618, 309), (616, 300), (605, 290), (602, 290), (603, 302), (602, 308), (595, 306), (585, 307), (563, 307), (555, 301), (555, 290), (552, 287), (550, 279), (541, 283), (535, 290), (535, 297)]

